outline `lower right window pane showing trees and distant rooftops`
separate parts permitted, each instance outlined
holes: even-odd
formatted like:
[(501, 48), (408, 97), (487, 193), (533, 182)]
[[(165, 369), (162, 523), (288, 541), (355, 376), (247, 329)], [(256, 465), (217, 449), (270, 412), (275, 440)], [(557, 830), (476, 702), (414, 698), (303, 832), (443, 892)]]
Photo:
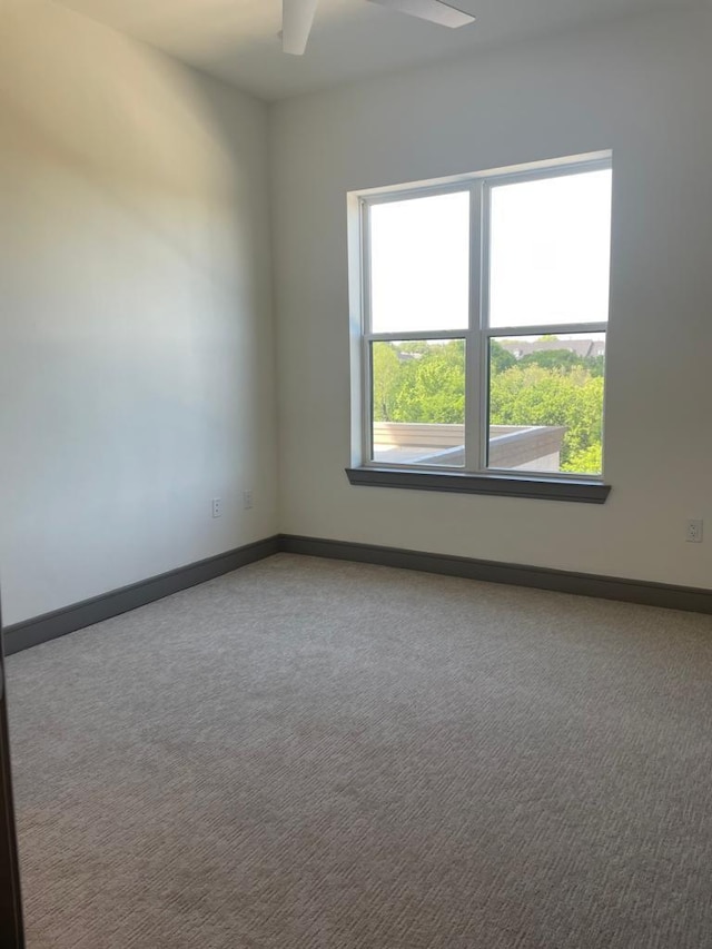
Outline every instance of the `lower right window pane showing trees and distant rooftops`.
[(490, 340), (487, 465), (602, 471), (605, 334)]

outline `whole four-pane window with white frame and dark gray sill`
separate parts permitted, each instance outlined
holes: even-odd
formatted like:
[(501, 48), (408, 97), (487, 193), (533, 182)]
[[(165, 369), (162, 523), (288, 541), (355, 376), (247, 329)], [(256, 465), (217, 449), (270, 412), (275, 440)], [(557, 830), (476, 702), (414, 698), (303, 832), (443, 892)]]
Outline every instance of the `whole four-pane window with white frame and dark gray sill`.
[(595, 156), (357, 196), (352, 481), (605, 500), (611, 189)]

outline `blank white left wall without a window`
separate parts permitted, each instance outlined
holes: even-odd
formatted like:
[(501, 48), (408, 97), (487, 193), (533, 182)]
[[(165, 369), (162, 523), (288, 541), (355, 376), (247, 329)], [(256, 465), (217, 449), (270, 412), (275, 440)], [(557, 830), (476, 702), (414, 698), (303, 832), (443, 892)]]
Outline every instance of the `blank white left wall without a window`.
[(7, 623), (277, 530), (266, 161), (257, 100), (3, 0)]

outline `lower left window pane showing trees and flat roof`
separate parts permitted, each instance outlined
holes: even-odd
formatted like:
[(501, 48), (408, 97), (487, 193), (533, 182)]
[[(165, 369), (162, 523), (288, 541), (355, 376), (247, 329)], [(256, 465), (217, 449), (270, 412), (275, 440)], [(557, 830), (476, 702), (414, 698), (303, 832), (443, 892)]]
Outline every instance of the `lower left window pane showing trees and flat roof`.
[(373, 461), (465, 464), (465, 340), (372, 343)]

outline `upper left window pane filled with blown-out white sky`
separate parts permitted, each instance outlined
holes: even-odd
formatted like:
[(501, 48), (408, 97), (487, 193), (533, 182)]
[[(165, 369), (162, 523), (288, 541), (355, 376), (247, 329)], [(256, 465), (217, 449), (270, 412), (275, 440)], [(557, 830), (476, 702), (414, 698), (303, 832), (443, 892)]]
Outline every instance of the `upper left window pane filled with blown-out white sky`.
[(468, 191), (373, 205), (373, 332), (466, 329), (468, 258)]

